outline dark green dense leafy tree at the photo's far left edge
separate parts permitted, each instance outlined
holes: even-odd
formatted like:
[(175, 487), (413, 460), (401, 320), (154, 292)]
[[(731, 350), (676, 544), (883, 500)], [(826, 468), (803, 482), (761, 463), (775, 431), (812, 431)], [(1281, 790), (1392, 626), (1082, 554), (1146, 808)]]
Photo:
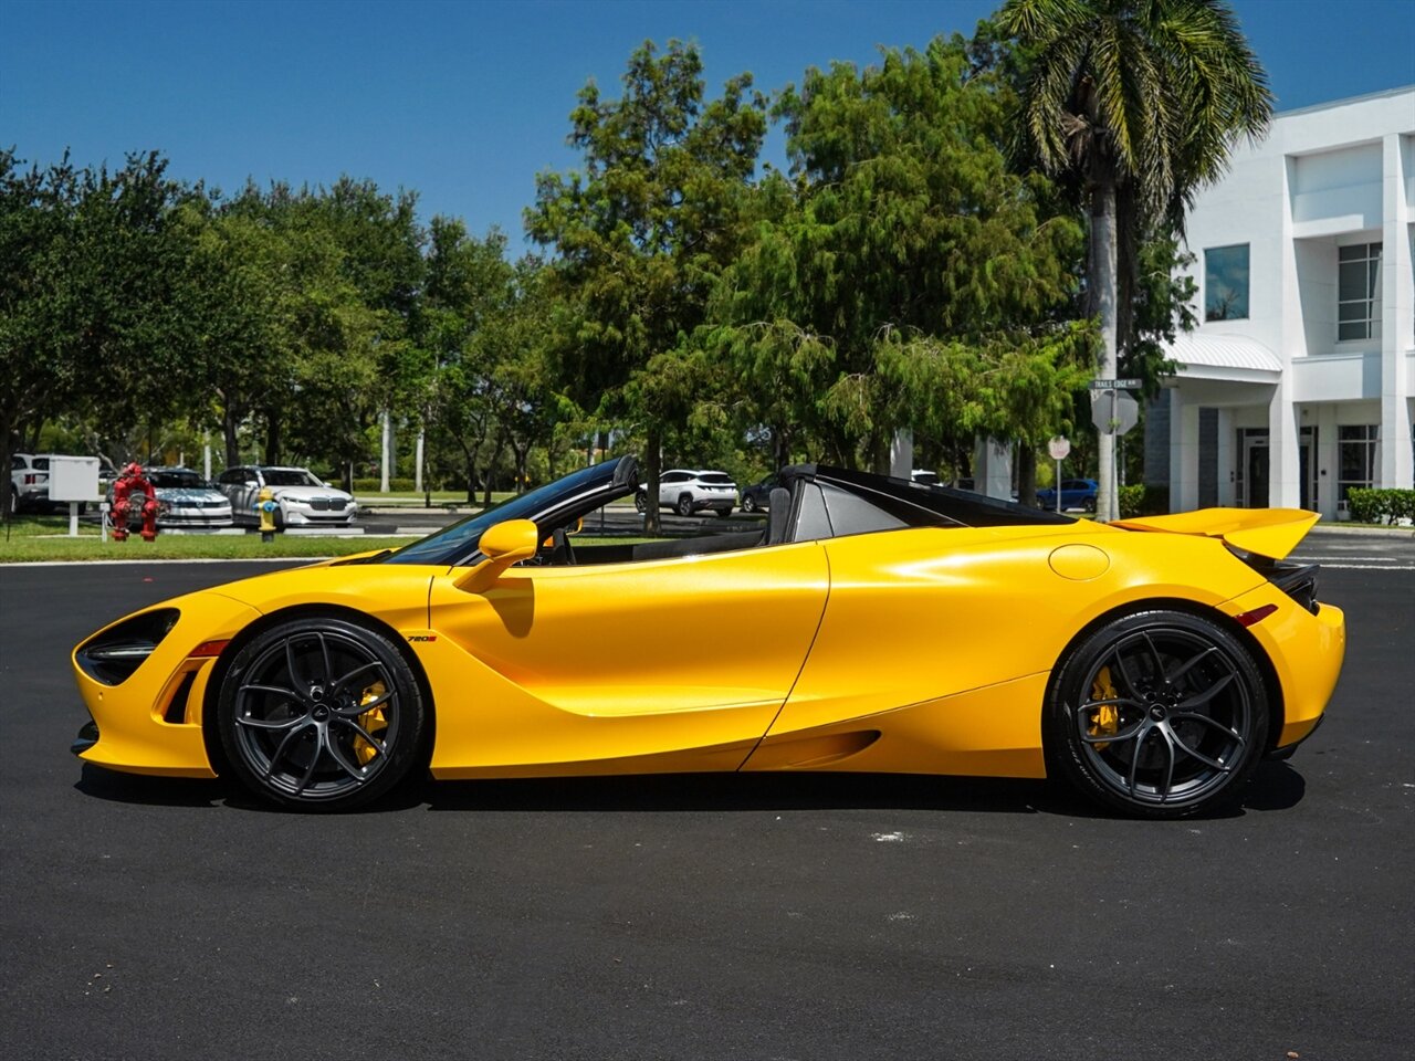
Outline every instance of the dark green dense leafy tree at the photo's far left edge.
[[(21, 168), (0, 151), (0, 460), (16, 434), (61, 410), (110, 423), (171, 412), (184, 365), (174, 311), (190, 190), (156, 153), (120, 170)], [(8, 475), (0, 504), (8, 505)]]

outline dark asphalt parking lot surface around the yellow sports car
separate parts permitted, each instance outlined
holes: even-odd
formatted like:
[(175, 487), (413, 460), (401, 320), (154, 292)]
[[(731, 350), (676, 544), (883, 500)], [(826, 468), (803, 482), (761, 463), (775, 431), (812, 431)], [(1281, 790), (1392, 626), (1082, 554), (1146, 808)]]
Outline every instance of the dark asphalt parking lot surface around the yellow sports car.
[(801, 775), (269, 812), (68, 753), (74, 642), (252, 564), (0, 567), (0, 1053), (1405, 1058), (1415, 545), (1347, 538), (1302, 547), (1347, 610), (1327, 724), (1177, 823)]

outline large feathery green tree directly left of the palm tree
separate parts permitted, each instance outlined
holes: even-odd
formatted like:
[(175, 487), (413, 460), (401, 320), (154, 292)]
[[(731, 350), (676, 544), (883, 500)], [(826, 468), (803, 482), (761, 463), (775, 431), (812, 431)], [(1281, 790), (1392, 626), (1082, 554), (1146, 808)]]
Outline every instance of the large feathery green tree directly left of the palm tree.
[[(1032, 402), (1030, 381), (1074, 381), (1051, 369), (1078, 332), (1053, 332), (1081, 233), (1046, 180), (1009, 173), (1007, 91), (995, 57), (954, 37), (811, 69), (782, 95), (795, 180), (763, 182), (717, 307), (778, 464), (792, 433), (883, 470), (899, 427), (952, 437), (986, 407), (972, 426), (1022, 437), (1065, 403)], [(1019, 372), (1030, 355), (1036, 373)]]

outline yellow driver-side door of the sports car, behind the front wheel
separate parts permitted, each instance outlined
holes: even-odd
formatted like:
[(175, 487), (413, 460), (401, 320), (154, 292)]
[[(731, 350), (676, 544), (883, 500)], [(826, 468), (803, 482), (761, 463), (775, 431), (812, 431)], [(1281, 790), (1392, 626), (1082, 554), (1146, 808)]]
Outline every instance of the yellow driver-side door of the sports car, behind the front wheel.
[[(819, 543), (583, 567), (514, 567), (468, 593), (433, 580), (440, 777), (736, 770), (811, 649)], [(515, 767), (516, 770), (512, 770)]]

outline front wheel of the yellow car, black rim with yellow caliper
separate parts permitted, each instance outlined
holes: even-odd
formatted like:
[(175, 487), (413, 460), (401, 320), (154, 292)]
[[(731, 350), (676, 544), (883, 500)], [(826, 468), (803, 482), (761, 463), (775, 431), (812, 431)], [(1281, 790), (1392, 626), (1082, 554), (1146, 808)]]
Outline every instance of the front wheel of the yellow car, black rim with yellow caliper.
[(248, 644), (221, 686), (216, 729), (252, 794), (299, 811), (362, 806), (423, 758), (427, 709), (386, 637), (355, 622), (282, 622)]

